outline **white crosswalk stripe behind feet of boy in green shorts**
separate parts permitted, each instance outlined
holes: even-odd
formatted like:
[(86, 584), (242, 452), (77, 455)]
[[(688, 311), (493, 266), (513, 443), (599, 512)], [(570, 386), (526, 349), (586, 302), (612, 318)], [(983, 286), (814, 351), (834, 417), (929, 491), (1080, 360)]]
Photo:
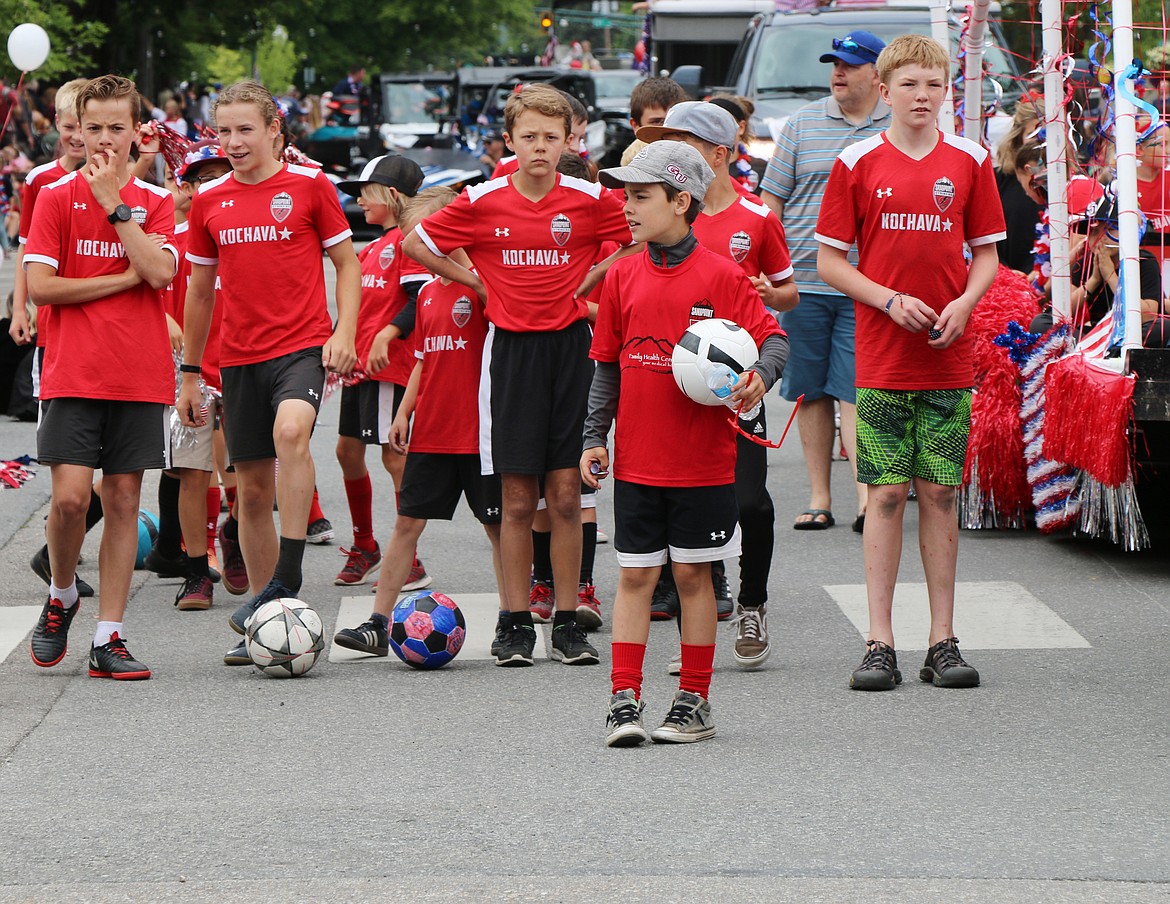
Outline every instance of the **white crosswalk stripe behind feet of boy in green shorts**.
[[(825, 587), (863, 637), (869, 614), (863, 584)], [(894, 591), (897, 649), (925, 650), (930, 606), (925, 584)], [(1092, 644), (1057, 613), (1014, 581), (964, 581), (955, 586), (955, 634), (964, 650), (1080, 649)]]

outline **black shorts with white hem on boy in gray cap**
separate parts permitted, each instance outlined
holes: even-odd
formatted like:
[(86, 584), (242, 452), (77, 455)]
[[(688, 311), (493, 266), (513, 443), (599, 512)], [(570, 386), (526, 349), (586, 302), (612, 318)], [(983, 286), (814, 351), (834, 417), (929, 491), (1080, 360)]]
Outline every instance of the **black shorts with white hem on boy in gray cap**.
[(739, 554), (735, 484), (647, 486), (613, 482), (613, 548), (618, 565), (648, 568), (672, 561), (702, 563)]

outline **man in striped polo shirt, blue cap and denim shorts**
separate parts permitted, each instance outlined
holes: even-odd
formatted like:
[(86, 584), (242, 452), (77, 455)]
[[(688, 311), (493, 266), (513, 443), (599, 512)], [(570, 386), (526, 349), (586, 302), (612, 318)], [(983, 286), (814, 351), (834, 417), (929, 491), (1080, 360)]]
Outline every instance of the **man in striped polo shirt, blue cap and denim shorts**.
[[(780, 395), (805, 400), (797, 415), (808, 469), (808, 508), (792, 525), (798, 531), (833, 525), (830, 465), (835, 440), (834, 400), (841, 406), (841, 439), (856, 481), (856, 408), (853, 365), (853, 302), (817, 276), (817, 214), (837, 156), (889, 126), (889, 108), (878, 96), (878, 54), (886, 44), (869, 32), (833, 39), (820, 57), (833, 64), (832, 95), (797, 110), (784, 124), (764, 173), (762, 198), (784, 222), (800, 303), (783, 316), (791, 353)], [(856, 264), (856, 251), (849, 251)], [(865, 523), (866, 489), (858, 488), (858, 517)]]

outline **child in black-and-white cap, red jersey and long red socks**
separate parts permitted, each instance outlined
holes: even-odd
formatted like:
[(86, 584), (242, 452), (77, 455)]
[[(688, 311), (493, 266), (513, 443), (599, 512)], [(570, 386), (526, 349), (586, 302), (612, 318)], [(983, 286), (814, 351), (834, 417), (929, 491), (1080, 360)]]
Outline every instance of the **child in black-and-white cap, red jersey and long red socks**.
[[(373, 488), (366, 470), (366, 446), (381, 447), (381, 462), (398, 494), (402, 483), (402, 456), (390, 444), (390, 427), (414, 370), (411, 345), (391, 337), (410, 336), (414, 329), (414, 296), (431, 275), (402, 251), (399, 218), (406, 201), (422, 185), (422, 170), (408, 157), (386, 154), (365, 165), (357, 179), (337, 187), (358, 199), (366, 222), (386, 232), (362, 249), (362, 308), (358, 312), (357, 353), (369, 380), (342, 389), (337, 421), (337, 461), (342, 465), (345, 497), (353, 522), (353, 547), (345, 567), (333, 579), (337, 585), (364, 584), (381, 561), (373, 538)], [(405, 264), (405, 265), (404, 265)], [(421, 563), (414, 561), (406, 589), (431, 582)]]

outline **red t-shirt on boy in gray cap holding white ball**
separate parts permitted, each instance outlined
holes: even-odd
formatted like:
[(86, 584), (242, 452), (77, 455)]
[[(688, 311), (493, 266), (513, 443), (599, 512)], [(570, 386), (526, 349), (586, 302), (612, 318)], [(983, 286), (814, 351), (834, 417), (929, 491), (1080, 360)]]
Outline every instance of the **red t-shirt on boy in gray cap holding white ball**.
[(644, 251), (605, 276), (590, 357), (621, 371), (613, 474), (651, 486), (718, 486), (735, 481), (730, 409), (688, 399), (670, 372), (675, 341), (702, 311), (739, 324), (763, 345), (782, 334), (735, 263), (703, 246), (663, 270)]

